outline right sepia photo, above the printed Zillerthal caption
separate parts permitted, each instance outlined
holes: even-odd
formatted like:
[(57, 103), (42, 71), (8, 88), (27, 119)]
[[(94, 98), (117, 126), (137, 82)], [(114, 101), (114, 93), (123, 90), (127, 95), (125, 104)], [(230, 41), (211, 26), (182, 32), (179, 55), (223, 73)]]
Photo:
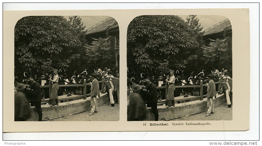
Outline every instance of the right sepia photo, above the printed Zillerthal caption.
[(232, 120), (232, 29), (221, 15), (134, 18), (127, 29), (127, 120)]

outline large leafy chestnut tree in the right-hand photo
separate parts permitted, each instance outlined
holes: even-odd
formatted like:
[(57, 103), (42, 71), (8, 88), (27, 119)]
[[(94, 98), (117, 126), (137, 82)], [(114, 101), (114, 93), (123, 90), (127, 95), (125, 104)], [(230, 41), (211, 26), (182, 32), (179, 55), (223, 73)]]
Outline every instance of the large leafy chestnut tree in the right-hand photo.
[[(175, 15), (144, 15), (134, 18), (127, 30), (127, 65), (129, 72), (158, 74), (161, 64), (169, 69), (195, 67), (202, 45), (198, 19), (188, 22)], [(192, 70), (192, 69), (190, 69)]]

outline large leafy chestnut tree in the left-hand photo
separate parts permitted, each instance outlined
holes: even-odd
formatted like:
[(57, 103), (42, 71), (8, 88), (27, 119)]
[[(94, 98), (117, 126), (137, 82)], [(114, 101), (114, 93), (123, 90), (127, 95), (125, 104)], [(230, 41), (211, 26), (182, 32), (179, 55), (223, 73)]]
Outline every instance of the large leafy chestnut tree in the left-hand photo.
[(80, 17), (21, 18), (15, 26), (15, 71), (68, 67), (81, 56), (84, 28)]

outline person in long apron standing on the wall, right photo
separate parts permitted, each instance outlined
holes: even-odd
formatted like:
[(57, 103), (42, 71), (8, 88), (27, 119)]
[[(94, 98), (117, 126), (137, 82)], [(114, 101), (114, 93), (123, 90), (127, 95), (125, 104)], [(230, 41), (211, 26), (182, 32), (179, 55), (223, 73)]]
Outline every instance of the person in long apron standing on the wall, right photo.
[(175, 106), (175, 98), (174, 98), (174, 90), (175, 90), (175, 76), (174, 76), (174, 70), (170, 71), (170, 77), (169, 80), (165, 79), (165, 81), (168, 83), (168, 90), (167, 90), (167, 108), (170, 108), (171, 106)]

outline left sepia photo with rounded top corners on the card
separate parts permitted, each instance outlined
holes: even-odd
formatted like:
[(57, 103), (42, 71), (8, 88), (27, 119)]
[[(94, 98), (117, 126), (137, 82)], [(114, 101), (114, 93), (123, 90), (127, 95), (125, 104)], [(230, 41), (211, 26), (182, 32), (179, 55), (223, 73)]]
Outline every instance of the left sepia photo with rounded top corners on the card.
[(26, 16), (14, 34), (14, 121), (119, 120), (114, 18)]

